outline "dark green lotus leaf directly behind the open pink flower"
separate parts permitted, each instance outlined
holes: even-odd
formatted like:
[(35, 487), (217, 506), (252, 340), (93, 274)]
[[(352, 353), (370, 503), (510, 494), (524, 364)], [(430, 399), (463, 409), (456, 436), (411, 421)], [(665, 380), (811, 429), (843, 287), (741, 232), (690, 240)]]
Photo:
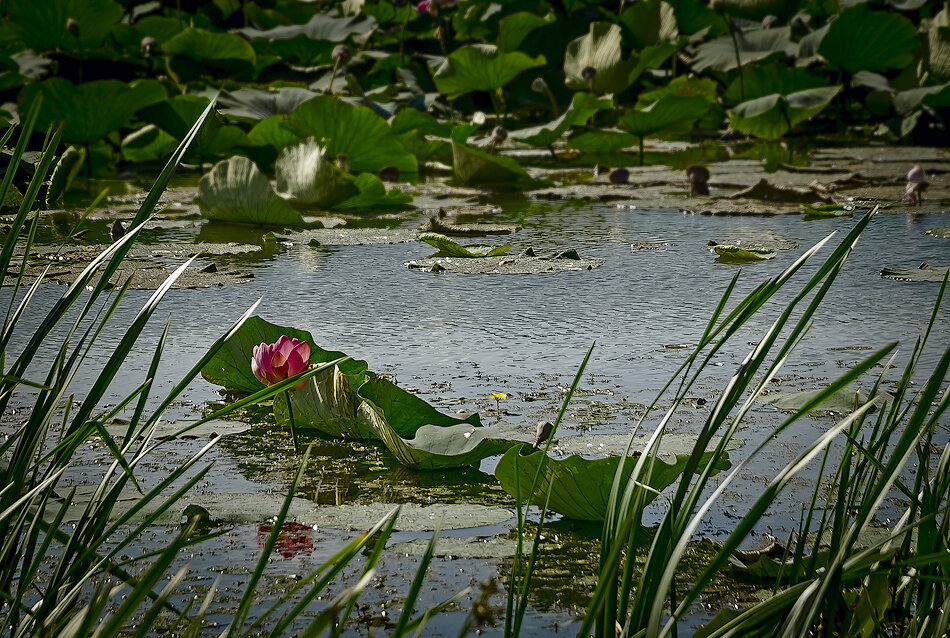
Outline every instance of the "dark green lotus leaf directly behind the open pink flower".
[[(245, 321), (214, 357), (201, 369), (201, 376), (216, 385), (230, 390), (252, 394), (264, 388), (251, 372), (251, 355), (254, 346), (274, 343), (282, 335), (310, 344), (310, 363), (319, 365), (346, 356), (342, 352), (324, 350), (313, 341), (306, 330), (287, 328), (253, 316)], [(366, 362), (351, 359), (340, 364), (343, 374), (358, 376), (366, 372)], [(295, 415), (296, 416), (296, 415)]]

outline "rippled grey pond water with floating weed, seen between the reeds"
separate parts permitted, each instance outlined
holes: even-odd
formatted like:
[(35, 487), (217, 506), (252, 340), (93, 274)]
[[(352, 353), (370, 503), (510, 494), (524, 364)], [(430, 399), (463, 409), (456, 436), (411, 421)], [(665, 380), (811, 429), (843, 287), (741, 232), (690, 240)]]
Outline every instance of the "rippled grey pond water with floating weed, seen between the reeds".
[[(556, 413), (566, 387), (591, 342), (597, 346), (581, 383), (581, 392), (569, 409), (561, 434), (581, 432), (624, 433), (634, 423), (639, 404), (649, 403), (689, 352), (680, 346), (696, 343), (705, 322), (738, 267), (717, 263), (707, 248), (709, 240), (724, 241), (737, 234), (767, 235), (790, 239), (798, 248), (780, 251), (774, 260), (742, 267), (734, 300), (765, 278), (787, 267), (803, 250), (831, 232), (836, 238), (823, 249), (814, 264), (800, 273), (785, 294), (770, 304), (762, 316), (719, 355), (709, 378), (700, 384), (696, 397), (706, 399), (684, 408), (673, 422), (674, 432), (690, 433), (700, 427), (717, 389), (775, 318), (779, 303), (807, 281), (820, 258), (856, 223), (857, 217), (804, 221), (801, 216), (713, 217), (673, 210), (620, 208), (593, 203), (543, 203), (523, 198), (492, 200), (502, 210), (494, 222), (515, 222), (524, 229), (504, 241), (516, 254), (526, 247), (537, 250), (575, 248), (584, 257), (604, 260), (600, 268), (582, 272), (542, 275), (461, 275), (409, 270), (404, 263), (432, 251), (421, 243), (371, 246), (281, 247), (276, 254), (233, 257), (219, 263), (239, 264), (255, 273), (250, 283), (200, 290), (173, 290), (163, 302), (172, 315), (167, 357), (158, 378), (161, 389), (172, 387), (177, 378), (205, 352), (208, 345), (256, 299), (265, 319), (309, 330), (317, 343), (342, 350), (369, 362), (370, 369), (391, 374), (403, 387), (445, 411), (479, 410), (485, 421), (501, 419), (533, 427), (538, 419)], [(405, 222), (418, 225), (421, 217)], [(105, 224), (106, 222), (102, 222)], [(950, 241), (925, 234), (929, 228), (950, 225), (950, 214), (909, 216), (881, 214), (872, 220), (857, 250), (818, 312), (805, 341), (794, 352), (780, 375), (776, 389), (799, 390), (819, 387), (840, 375), (850, 364), (894, 340), (904, 356), (922, 334), (939, 290), (938, 284), (909, 283), (883, 279), (882, 267), (916, 267), (921, 262), (950, 263)], [(212, 228), (201, 230), (201, 239), (215, 236)], [(260, 232), (227, 232), (231, 241), (256, 243)], [(171, 230), (155, 235), (160, 241), (194, 241), (194, 231)], [(502, 243), (502, 238), (492, 238)], [(637, 242), (664, 242), (661, 250), (637, 250)], [(798, 282), (797, 284), (795, 282)], [(34, 308), (47, 308), (63, 288), (45, 285)], [(6, 292), (6, 291), (4, 291)], [(88, 362), (94, 370), (105, 361), (137, 309), (151, 293), (130, 291), (102, 340), (103, 347)], [(164, 313), (160, 312), (145, 338), (137, 345), (116, 385), (111, 400), (118, 399), (142, 382), (152, 355)], [(25, 325), (38, 320), (27, 318)], [(16, 344), (14, 340), (14, 344)], [(932, 368), (936, 357), (950, 343), (950, 309), (940, 311), (923, 370)], [(48, 353), (47, 353), (48, 354)], [(899, 358), (899, 365), (906, 361)], [(41, 369), (47, 361), (37, 361)], [(77, 382), (77, 393), (83, 389)], [(865, 386), (869, 382), (864, 383)], [(507, 398), (496, 410), (489, 398), (504, 392)], [(194, 418), (221, 400), (216, 387), (194, 383), (184, 401), (173, 406), (169, 418)], [(662, 404), (661, 404), (662, 405)], [(499, 414), (499, 411), (501, 412)], [(740, 431), (745, 446), (733, 454), (741, 458), (760, 441), (782, 415), (770, 407), (753, 412)], [(285, 432), (267, 426), (266, 410), (245, 418), (260, 427), (237, 437), (224, 437), (209, 459), (215, 467), (199, 486), (199, 493), (265, 492), (280, 494), (296, 468)], [(744, 483), (728, 493), (721, 506), (701, 527), (701, 534), (723, 538), (741, 515), (750, 495), (780, 469), (797, 451), (831, 423), (827, 417), (803, 420), (784, 436), (774, 453), (756, 459)], [(373, 445), (315, 439), (314, 460), (304, 480), (301, 495), (320, 503), (453, 503), (472, 502), (490, 507), (513, 507), (490, 472), (494, 460), (481, 471), (414, 474), (407, 472)], [(146, 473), (160, 477), (176, 455), (193, 452), (195, 442), (170, 445), (168, 456), (145, 466)], [(101, 452), (101, 451), (100, 451)], [(95, 450), (90, 456), (95, 456)], [(77, 479), (78, 480), (78, 479)], [(147, 481), (148, 482), (148, 481)], [(787, 538), (798, 521), (802, 494), (810, 494), (807, 481), (793, 485), (757, 534), (772, 533)], [(444, 535), (486, 540), (508, 539), (513, 520), (477, 529), (461, 529)], [(175, 530), (156, 528), (145, 544), (170, 538)], [(203, 591), (223, 572), (222, 586), (239, 587), (245, 568), (257, 560), (255, 525), (237, 525), (190, 558), (195, 577), (190, 587)], [(267, 585), (261, 594), (275, 600), (294, 575), (306, 573), (332, 554), (351, 532), (319, 529), (305, 532), (305, 539), (288, 556), (275, 555)], [(394, 543), (412, 543), (428, 538), (427, 532), (398, 532)], [(568, 626), (586, 604), (586, 591), (596, 563), (596, 529), (558, 523), (550, 533), (552, 545), (545, 553), (539, 585), (532, 596), (526, 635), (552, 631), (574, 633)], [(308, 540), (309, 539), (309, 540)], [(751, 541), (755, 541), (753, 538)], [(760, 544), (764, 544), (762, 540)], [(752, 544), (756, 544), (752, 542)], [(397, 549), (404, 549), (399, 546)], [(392, 599), (405, 593), (405, 574), (417, 559), (408, 551), (388, 556), (380, 570), (382, 582), (368, 591), (361, 608), (365, 619), (379, 622)], [(463, 556), (464, 552), (459, 552)], [(584, 565), (584, 560), (589, 564)], [(580, 562), (579, 562), (580, 561)], [(578, 565), (581, 565), (578, 575)], [(227, 566), (227, 569), (224, 569)], [(506, 560), (497, 558), (437, 558), (423, 591), (424, 604), (438, 602), (450, 592), (507, 575)], [(338, 585), (352, 583), (343, 579)], [(284, 583), (283, 585), (281, 583)], [(234, 595), (231, 591), (229, 595)], [(490, 600), (503, 605), (503, 590)], [(475, 594), (463, 599), (461, 609), (434, 619), (428, 633), (454, 635)], [(234, 602), (216, 606), (215, 617), (224, 621)], [(393, 612), (398, 614), (398, 611)], [(697, 622), (709, 615), (698, 612)], [(365, 626), (354, 626), (364, 632)], [(500, 625), (489, 633), (500, 631)], [(457, 629), (455, 630), (457, 631)]]

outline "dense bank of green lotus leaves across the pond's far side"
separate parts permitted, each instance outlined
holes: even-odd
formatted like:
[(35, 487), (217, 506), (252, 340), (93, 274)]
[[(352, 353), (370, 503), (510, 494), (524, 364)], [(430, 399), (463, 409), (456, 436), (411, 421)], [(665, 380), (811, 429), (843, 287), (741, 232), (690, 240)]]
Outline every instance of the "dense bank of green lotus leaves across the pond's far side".
[(44, 97), (40, 127), (63, 122), (77, 149), (68, 186), (83, 163), (163, 159), (219, 95), (186, 161), (245, 156), (273, 175), (283, 158), (281, 179), (288, 149), (313, 138), (352, 179), (284, 175), (278, 194), (329, 207), (392, 206), (377, 180), (429, 162), (465, 183), (527, 181), (501, 145), (605, 153), (726, 128), (946, 132), (945, 2), (423, 4), (9, 0), (0, 117)]

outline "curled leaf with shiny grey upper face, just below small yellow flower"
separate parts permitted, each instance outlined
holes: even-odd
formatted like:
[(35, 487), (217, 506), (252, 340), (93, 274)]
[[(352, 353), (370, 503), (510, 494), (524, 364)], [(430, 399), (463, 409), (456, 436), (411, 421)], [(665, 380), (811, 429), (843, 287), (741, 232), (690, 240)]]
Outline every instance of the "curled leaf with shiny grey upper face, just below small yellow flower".
[(412, 439), (400, 437), (389, 426), (386, 415), (364, 401), (360, 411), (368, 411), (376, 433), (396, 460), (416, 470), (444, 470), (476, 465), (489, 456), (504, 454), (509, 448), (534, 441), (534, 432), (512, 425), (477, 428), (469, 423), (423, 425)]

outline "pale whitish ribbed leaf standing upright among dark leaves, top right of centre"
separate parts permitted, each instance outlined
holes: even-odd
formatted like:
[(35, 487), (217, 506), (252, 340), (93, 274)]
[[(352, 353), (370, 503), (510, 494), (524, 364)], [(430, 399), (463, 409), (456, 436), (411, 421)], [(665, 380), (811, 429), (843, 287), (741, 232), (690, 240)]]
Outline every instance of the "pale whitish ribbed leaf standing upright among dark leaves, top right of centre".
[[(620, 93), (631, 84), (630, 75), (636, 67), (623, 57), (623, 32), (616, 24), (591, 22), (590, 30), (571, 40), (564, 53), (564, 84), (572, 91)], [(588, 82), (583, 71), (592, 68), (594, 79)]]

